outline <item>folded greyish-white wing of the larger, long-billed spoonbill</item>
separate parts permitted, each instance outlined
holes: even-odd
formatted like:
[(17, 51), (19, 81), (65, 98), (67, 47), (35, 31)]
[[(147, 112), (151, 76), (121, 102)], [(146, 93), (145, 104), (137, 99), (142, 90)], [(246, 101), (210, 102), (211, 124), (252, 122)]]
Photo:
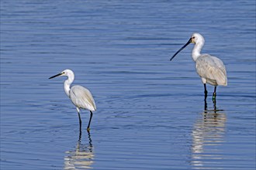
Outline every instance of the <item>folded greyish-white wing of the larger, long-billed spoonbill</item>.
[(227, 72), (223, 62), (216, 56), (204, 54), (195, 61), (199, 76), (217, 85), (227, 86)]

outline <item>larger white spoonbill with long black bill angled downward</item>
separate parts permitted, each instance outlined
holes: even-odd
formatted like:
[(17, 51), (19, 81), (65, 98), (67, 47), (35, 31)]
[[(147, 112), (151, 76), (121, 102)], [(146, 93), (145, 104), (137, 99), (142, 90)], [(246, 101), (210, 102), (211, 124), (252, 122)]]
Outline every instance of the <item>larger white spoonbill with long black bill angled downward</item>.
[(206, 83), (214, 86), (213, 100), (216, 100), (216, 87), (219, 85), (227, 86), (227, 71), (222, 60), (216, 56), (200, 53), (204, 42), (205, 39), (202, 37), (202, 35), (199, 33), (193, 33), (189, 39), (189, 42), (182, 46), (182, 48), (171, 57), (171, 59), (182, 51), (185, 46), (188, 46), (189, 43), (195, 43), (195, 46), (192, 49), (192, 59), (195, 61), (196, 72), (201, 77), (205, 88), (205, 100), (207, 97)]

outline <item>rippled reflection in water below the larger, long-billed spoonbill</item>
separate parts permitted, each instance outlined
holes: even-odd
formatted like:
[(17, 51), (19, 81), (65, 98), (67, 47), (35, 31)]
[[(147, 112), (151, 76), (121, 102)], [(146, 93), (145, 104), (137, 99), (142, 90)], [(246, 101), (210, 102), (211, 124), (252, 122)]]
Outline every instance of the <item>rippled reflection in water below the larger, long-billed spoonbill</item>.
[(224, 141), (226, 114), (216, 108), (216, 100), (213, 100), (213, 110), (207, 109), (205, 100), (204, 109), (192, 130), (192, 168), (216, 169), (218, 162), (223, 159), (221, 145)]

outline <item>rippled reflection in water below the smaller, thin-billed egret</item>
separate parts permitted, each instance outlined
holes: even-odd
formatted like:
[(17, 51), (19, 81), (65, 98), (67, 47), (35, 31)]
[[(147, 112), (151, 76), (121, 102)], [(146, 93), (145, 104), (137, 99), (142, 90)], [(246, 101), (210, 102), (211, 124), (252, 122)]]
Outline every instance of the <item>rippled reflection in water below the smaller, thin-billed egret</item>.
[(89, 169), (92, 168), (94, 151), (90, 132), (88, 132), (88, 144), (81, 143), (81, 133), (74, 150), (66, 151), (64, 169)]

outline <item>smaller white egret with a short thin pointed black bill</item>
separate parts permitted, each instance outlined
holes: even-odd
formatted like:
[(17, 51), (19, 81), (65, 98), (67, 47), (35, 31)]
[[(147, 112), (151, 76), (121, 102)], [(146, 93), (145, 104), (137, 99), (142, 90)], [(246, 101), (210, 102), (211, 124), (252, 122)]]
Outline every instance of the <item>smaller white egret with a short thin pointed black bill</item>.
[(96, 110), (96, 105), (92, 97), (92, 93), (85, 87), (81, 87), (79, 85), (75, 85), (71, 87), (71, 83), (73, 83), (74, 81), (74, 72), (72, 70), (68, 70), (68, 69), (64, 70), (55, 76), (51, 76), (49, 79), (52, 79), (56, 76), (67, 76), (67, 80), (64, 81), (64, 91), (78, 110), (80, 132), (81, 132), (80, 109), (86, 109), (90, 111), (91, 113), (90, 121), (87, 127), (87, 131), (90, 131), (90, 124), (92, 121), (92, 111)]

